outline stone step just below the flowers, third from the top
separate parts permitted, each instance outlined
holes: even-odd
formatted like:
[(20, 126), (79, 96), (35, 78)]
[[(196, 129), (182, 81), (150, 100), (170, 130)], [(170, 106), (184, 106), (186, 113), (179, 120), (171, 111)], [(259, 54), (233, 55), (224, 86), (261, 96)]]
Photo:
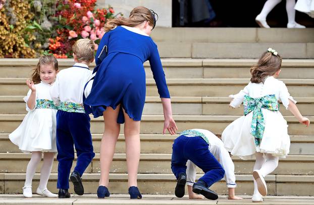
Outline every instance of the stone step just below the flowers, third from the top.
[[(58, 59), (59, 69), (73, 65), (73, 59)], [(0, 59), (0, 78), (28, 78), (38, 59)], [(249, 78), (250, 67), (257, 59), (189, 59), (164, 58), (164, 71), (168, 78)], [(93, 69), (95, 64), (91, 64)], [(144, 63), (146, 78), (152, 78), (149, 63)], [(313, 59), (284, 59), (281, 78), (314, 78)], [(297, 69), (297, 72), (296, 72)]]

